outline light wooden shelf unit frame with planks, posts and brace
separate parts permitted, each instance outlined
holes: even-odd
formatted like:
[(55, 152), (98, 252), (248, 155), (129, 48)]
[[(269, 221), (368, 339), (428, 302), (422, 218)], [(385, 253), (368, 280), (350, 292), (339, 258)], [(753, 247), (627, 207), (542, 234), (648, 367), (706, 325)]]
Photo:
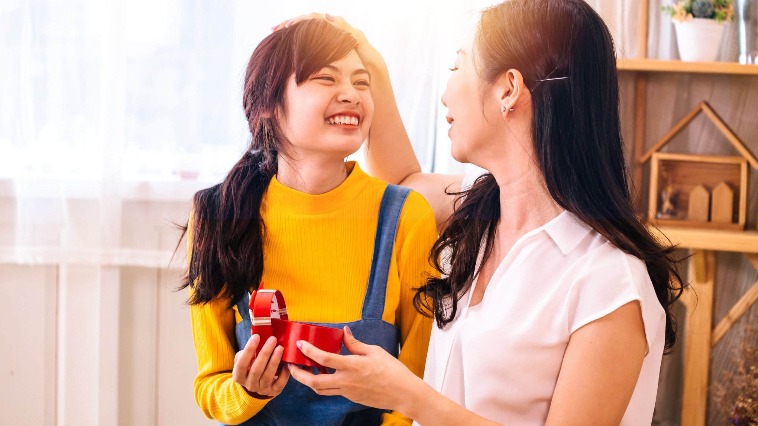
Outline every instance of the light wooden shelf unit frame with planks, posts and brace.
[[(649, 155), (645, 153), (645, 121), (647, 111), (647, 82), (650, 73), (691, 73), (758, 76), (758, 65), (741, 65), (734, 62), (684, 62), (647, 58), (648, 17), (650, 1), (639, 0), (637, 16), (637, 58), (618, 58), (619, 72), (634, 72), (634, 163), (632, 180), (639, 190), (634, 194), (637, 206), (641, 207), (642, 166)], [(692, 114), (692, 113), (691, 113)], [(723, 130), (722, 130), (723, 131)], [(651, 150), (652, 151), (652, 150)], [(744, 155), (744, 153), (743, 153)], [(751, 163), (752, 164), (752, 163)], [(755, 166), (755, 164), (753, 164)], [(713, 327), (713, 287), (716, 276), (716, 252), (742, 252), (758, 270), (758, 231), (715, 230), (694, 227), (661, 226), (652, 229), (663, 239), (691, 249), (689, 262), (690, 284), (681, 301), (687, 307), (684, 321), (684, 380), (681, 395), (681, 426), (705, 426), (708, 405), (708, 371), (711, 348), (725, 336), (728, 330), (758, 302), (758, 282), (741, 296), (728, 314)], [(663, 239), (666, 241), (665, 239)], [(728, 285), (723, 283), (722, 285)]]

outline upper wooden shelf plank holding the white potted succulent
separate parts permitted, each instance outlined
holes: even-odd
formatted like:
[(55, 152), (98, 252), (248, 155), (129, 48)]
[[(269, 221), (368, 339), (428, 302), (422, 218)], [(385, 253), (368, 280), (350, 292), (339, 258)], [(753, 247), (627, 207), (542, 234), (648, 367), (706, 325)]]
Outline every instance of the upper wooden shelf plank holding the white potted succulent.
[(758, 65), (742, 65), (737, 62), (684, 62), (662, 59), (617, 58), (616, 66), (621, 71), (758, 75)]

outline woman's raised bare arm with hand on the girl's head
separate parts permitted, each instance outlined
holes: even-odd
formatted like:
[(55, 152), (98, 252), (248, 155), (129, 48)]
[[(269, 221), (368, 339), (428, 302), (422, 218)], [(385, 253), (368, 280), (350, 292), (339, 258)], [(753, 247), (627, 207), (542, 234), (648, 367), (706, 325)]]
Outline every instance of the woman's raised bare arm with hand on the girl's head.
[(352, 27), (342, 17), (312, 13), (283, 21), (274, 31), (305, 19), (327, 20), (340, 30), (348, 31), (358, 41), (358, 54), (371, 73), (371, 98), (374, 99), (374, 120), (365, 146), (368, 172), (389, 183), (408, 186), (424, 196), (434, 210), (437, 228), (440, 229), (453, 214), (455, 200), (454, 196), (446, 195), (445, 190), (459, 191), (464, 175), (421, 173), (421, 166), (397, 109), (387, 64), (361, 30)]

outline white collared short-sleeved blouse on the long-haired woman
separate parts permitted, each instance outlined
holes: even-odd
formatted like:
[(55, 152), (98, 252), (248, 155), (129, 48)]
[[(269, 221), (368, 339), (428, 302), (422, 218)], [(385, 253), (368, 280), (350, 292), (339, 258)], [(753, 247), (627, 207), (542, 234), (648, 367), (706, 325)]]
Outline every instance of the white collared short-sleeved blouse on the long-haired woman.
[[(467, 174), (464, 188), (482, 172)], [(647, 347), (621, 426), (650, 426), (666, 318), (639, 258), (564, 211), (515, 243), (468, 308), (470, 296), (432, 330), (424, 381), (435, 390), (500, 424), (541, 426), (571, 334), (637, 300)]]

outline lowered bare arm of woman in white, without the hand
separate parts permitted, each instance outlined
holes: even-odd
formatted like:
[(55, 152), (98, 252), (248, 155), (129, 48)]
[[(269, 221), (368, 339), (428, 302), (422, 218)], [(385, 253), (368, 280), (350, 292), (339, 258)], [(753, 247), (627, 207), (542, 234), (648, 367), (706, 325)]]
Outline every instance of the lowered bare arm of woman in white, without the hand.
[[(637, 384), (644, 353), (639, 302), (623, 305), (576, 330), (563, 356), (545, 426), (617, 426)], [(419, 424), (496, 424), (425, 383), (416, 384), (412, 394), (399, 411)]]

